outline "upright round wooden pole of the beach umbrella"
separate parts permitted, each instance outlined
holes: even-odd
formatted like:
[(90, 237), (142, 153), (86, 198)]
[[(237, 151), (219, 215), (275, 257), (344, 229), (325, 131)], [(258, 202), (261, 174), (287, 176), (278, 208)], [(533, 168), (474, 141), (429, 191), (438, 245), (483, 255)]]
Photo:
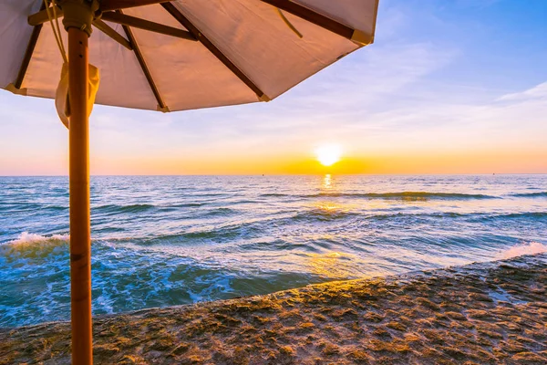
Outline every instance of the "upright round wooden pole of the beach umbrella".
[(68, 31), (72, 363), (93, 363), (89, 210), (88, 33)]

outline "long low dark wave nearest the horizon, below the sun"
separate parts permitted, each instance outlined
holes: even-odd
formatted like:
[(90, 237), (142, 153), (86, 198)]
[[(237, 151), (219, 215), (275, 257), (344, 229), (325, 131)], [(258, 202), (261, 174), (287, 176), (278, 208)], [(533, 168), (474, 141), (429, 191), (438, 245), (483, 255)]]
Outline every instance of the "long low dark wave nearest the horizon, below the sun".
[(469, 193), (434, 193), (434, 192), (395, 192), (395, 193), (315, 193), (292, 195), (283, 193), (265, 193), (263, 197), (283, 197), (295, 196), (301, 198), (319, 198), (319, 197), (342, 197), (342, 198), (369, 198), (369, 199), (400, 199), (400, 200), (428, 200), (428, 199), (447, 199), (447, 200), (465, 200), (465, 199), (499, 199), (498, 196), (485, 194)]

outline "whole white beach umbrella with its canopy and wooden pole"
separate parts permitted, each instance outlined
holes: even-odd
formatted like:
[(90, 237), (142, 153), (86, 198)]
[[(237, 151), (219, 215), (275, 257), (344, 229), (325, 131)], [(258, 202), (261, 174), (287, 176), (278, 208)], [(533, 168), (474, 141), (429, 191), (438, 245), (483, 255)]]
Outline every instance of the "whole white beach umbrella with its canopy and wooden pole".
[[(75, 364), (92, 362), (88, 116), (93, 101), (164, 112), (269, 101), (371, 44), (377, 1), (0, 2), (0, 87), (57, 96), (59, 116), (69, 125)], [(57, 18), (67, 32), (58, 29)], [(98, 31), (88, 42), (94, 27)]]

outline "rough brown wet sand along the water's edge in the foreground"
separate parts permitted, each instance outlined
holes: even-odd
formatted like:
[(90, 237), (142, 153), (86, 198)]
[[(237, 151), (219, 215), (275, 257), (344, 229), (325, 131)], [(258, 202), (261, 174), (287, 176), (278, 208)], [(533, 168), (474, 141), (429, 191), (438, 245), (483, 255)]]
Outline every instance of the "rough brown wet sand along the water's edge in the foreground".
[[(547, 254), (95, 318), (98, 364), (545, 364)], [(69, 324), (0, 363), (70, 362)]]

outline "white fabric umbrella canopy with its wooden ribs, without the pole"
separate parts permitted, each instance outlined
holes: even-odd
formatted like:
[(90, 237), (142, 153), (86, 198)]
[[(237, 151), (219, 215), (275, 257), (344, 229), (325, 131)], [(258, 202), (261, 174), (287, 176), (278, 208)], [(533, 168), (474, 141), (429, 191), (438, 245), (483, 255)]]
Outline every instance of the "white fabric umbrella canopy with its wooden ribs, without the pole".
[[(101, 74), (98, 104), (174, 111), (274, 99), (372, 43), (377, 12), (377, 0), (180, 0), (116, 9), (139, 3), (100, 2), (89, 43), (89, 62)], [(63, 58), (52, 28), (44, 11), (31, 17), (36, 26), (27, 22), (42, 4), (0, 4), (0, 87), (55, 98)]]

